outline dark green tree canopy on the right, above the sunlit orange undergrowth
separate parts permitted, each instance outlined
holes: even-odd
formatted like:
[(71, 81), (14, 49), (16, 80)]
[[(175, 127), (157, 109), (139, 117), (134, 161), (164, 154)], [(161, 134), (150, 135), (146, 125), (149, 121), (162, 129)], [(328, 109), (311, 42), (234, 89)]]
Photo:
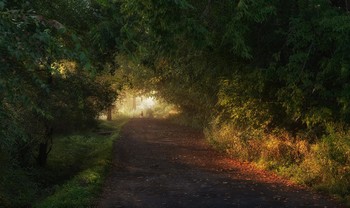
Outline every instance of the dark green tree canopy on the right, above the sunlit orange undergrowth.
[(346, 7), (325, 0), (122, 2), (129, 49), (153, 87), (184, 112), (316, 135), (348, 122)]

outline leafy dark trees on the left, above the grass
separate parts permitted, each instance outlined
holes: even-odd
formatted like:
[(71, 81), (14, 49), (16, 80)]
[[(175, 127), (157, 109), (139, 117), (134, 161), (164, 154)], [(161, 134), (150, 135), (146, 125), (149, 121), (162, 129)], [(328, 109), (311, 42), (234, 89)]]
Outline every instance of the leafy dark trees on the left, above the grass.
[(52, 134), (88, 125), (114, 95), (92, 78), (75, 28), (42, 16), (43, 5), (1, 3), (1, 152), (45, 165)]

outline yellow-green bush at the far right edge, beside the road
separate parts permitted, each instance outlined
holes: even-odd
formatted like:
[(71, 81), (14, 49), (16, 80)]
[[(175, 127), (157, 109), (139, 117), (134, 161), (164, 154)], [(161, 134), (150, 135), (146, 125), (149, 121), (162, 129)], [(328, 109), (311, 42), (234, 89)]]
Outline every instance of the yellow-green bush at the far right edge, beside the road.
[(315, 188), (345, 197), (350, 194), (350, 132), (330, 133), (312, 145), (300, 164), (300, 180)]

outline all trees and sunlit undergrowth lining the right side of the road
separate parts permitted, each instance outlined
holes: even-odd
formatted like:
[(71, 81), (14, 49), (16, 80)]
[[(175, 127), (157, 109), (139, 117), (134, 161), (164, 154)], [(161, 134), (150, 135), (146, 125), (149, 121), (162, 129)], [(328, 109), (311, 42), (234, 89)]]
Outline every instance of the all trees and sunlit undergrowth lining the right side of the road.
[(234, 156), (349, 194), (348, 1), (119, 2), (133, 86)]

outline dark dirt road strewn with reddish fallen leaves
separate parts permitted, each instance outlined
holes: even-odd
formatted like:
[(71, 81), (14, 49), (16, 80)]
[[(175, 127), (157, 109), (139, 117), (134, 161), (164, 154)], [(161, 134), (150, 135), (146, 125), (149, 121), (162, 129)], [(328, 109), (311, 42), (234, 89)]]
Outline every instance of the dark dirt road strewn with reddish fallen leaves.
[(133, 119), (115, 144), (114, 167), (98, 207), (342, 206), (217, 153), (200, 132)]

